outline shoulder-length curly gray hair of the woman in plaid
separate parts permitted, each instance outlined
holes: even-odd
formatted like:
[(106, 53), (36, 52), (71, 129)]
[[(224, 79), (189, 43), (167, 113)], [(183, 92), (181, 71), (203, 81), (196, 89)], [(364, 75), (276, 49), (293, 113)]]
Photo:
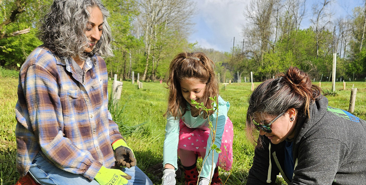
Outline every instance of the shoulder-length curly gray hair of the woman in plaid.
[[(103, 15), (103, 31), (100, 40), (90, 53), (85, 35), (90, 8), (98, 7)], [(82, 60), (99, 54), (113, 56), (111, 48), (111, 27), (107, 22), (108, 10), (100, 0), (54, 0), (48, 14), (41, 19), (37, 34), (44, 46), (61, 58), (79, 56)]]

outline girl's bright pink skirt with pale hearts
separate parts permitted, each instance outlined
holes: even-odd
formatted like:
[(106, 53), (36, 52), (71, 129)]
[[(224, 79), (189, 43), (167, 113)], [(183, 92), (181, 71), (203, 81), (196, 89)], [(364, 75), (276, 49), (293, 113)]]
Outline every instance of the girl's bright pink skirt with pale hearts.
[[(179, 143), (178, 149), (190, 150), (200, 155), (200, 152), (206, 152), (207, 139), (210, 131), (202, 131), (197, 128), (188, 128), (186, 124), (179, 120)], [(232, 166), (232, 141), (234, 137), (234, 129), (232, 122), (227, 118), (224, 133), (221, 140), (221, 153), (217, 164), (224, 170), (229, 171)]]

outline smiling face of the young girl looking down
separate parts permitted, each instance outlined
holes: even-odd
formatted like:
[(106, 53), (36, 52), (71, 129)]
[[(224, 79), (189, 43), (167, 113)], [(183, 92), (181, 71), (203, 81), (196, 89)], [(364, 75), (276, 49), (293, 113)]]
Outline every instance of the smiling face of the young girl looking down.
[(206, 84), (202, 83), (201, 80), (194, 77), (185, 78), (183, 80), (179, 80), (179, 84), (184, 99), (186, 99), (191, 106), (195, 106), (191, 104), (191, 99), (198, 102), (198, 100), (203, 97)]

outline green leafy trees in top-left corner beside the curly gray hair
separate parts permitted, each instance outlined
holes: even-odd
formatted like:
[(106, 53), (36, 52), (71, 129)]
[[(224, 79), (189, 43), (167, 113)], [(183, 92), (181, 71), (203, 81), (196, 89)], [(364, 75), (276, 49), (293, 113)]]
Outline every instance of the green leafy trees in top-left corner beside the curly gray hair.
[(42, 44), (36, 23), (46, 12), (48, 0), (0, 0), (0, 66), (13, 68)]

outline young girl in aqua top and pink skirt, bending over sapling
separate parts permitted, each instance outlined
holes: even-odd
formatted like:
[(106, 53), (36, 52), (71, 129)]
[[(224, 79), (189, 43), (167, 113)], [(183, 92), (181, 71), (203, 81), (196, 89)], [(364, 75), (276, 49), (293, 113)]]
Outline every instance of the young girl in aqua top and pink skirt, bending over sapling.
[[(231, 169), (233, 127), (227, 116), (230, 104), (218, 96), (219, 87), (213, 66), (213, 61), (204, 53), (179, 53), (169, 66), (162, 185), (176, 183), (177, 152), (184, 168), (185, 185), (195, 185), (197, 181), (199, 185), (208, 185), (211, 178), (211, 184), (221, 185), (217, 166)], [(212, 109), (209, 97), (215, 96), (219, 100), (219, 114), (214, 110), (206, 114), (202, 108), (196, 109), (191, 104), (193, 99)], [(210, 132), (208, 119), (216, 128), (214, 144), (221, 148), (220, 154), (210, 151), (213, 133)], [(204, 161), (200, 175), (196, 167), (198, 156)]]

